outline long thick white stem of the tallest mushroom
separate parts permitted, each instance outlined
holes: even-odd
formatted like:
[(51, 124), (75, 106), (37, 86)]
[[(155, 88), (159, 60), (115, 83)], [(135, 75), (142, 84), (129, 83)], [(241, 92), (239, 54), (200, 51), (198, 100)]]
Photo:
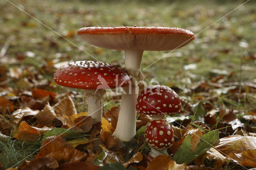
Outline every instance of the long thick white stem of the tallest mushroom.
[[(126, 69), (140, 72), (143, 50), (125, 49), (125, 67)], [(123, 87), (121, 106), (118, 116), (118, 122), (114, 136), (123, 141), (129, 141), (136, 134), (136, 99), (138, 97), (138, 86), (132, 83)]]

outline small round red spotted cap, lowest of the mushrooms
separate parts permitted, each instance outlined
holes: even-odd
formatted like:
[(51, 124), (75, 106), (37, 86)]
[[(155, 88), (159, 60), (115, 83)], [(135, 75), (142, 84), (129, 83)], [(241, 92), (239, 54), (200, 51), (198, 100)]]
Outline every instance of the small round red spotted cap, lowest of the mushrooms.
[(146, 125), (144, 137), (148, 145), (153, 148), (169, 148), (173, 138), (172, 127), (166, 121), (156, 119)]

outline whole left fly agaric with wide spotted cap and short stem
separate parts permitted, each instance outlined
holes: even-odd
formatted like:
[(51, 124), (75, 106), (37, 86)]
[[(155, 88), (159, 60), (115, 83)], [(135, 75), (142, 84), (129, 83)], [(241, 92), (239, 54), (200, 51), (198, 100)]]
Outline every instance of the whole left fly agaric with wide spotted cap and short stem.
[(54, 81), (65, 87), (84, 89), (88, 115), (102, 121), (102, 102), (105, 89), (115, 89), (129, 84), (130, 78), (118, 66), (98, 61), (74, 61), (64, 65), (54, 74)]

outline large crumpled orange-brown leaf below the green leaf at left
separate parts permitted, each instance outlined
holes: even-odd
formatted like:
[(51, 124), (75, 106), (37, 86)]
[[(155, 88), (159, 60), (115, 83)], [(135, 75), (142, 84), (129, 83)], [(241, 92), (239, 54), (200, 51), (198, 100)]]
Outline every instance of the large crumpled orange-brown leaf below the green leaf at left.
[(69, 146), (61, 136), (50, 136), (42, 142), (40, 152), (36, 158), (54, 158), (59, 164), (63, 162), (80, 162), (86, 159), (87, 154)]

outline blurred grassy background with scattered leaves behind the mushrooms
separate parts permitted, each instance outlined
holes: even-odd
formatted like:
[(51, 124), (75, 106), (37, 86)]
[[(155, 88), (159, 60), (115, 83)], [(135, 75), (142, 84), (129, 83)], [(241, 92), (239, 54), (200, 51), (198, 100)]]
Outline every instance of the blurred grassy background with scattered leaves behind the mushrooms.
[(144, 51), (142, 72), (147, 82), (186, 88), (220, 77), (216, 83), (255, 82), (256, 1), (240, 6), (244, 2), (1, 0), (0, 91), (59, 88), (52, 79), (56, 67), (64, 61), (94, 60), (90, 55), (124, 64), (124, 51), (94, 47), (76, 35), (82, 27), (97, 25), (178, 27), (196, 35), (196, 40), (171, 53)]

